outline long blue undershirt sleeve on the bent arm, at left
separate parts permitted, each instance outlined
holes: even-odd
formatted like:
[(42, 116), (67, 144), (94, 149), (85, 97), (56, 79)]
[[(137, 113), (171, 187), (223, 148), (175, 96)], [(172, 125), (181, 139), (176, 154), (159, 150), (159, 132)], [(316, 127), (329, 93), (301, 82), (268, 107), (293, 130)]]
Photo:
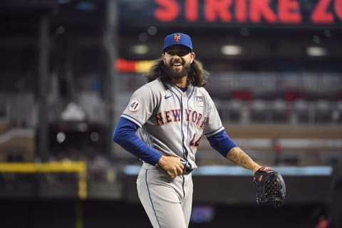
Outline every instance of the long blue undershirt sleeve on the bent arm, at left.
[(138, 135), (135, 134), (137, 130), (138, 125), (121, 117), (113, 132), (113, 141), (144, 162), (157, 165), (162, 154), (142, 142)]

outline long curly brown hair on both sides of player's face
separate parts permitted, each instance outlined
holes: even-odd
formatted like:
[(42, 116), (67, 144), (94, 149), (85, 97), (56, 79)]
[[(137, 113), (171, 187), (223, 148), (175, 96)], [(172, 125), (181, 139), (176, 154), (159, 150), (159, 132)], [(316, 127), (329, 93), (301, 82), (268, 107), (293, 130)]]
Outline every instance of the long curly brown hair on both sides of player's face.
[[(154, 81), (157, 78), (160, 78), (162, 82), (170, 82), (170, 76), (167, 75), (165, 68), (166, 66), (162, 61), (162, 58), (157, 59), (155, 64), (150, 67), (150, 70), (144, 74), (147, 82)], [(208, 76), (209, 73), (204, 70), (200, 61), (192, 61), (190, 64), (190, 72), (187, 75), (187, 80), (192, 86), (205, 86), (207, 84)]]

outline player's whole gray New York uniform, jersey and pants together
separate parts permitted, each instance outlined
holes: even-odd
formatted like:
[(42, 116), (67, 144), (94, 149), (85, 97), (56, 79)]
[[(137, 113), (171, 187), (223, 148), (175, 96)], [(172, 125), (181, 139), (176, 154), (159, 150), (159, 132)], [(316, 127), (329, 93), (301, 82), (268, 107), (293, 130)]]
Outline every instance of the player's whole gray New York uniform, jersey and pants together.
[[(160, 79), (133, 93), (123, 118), (140, 127), (138, 135), (162, 155), (180, 157), (197, 167), (202, 135), (224, 130), (207, 90), (187, 86), (184, 92)], [(144, 162), (137, 180), (138, 196), (153, 227), (186, 228), (192, 208), (192, 175), (171, 178), (161, 167)]]

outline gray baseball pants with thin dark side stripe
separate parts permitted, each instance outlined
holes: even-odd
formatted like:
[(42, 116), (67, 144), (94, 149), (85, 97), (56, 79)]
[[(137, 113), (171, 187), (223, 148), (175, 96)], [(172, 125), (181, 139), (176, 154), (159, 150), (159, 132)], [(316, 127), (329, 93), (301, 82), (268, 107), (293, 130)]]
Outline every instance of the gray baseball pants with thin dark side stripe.
[(138, 196), (154, 228), (187, 228), (192, 209), (192, 175), (171, 178), (144, 162), (137, 180)]

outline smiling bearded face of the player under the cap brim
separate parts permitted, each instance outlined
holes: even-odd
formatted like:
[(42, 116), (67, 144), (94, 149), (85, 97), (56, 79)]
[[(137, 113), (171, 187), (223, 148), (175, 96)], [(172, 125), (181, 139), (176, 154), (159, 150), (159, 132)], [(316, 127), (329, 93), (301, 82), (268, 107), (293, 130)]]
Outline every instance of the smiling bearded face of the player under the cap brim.
[(173, 83), (179, 83), (183, 78), (186, 79), (190, 72), (190, 64), (194, 61), (195, 53), (182, 45), (175, 45), (167, 48), (162, 53), (162, 61), (166, 66), (167, 75)]

